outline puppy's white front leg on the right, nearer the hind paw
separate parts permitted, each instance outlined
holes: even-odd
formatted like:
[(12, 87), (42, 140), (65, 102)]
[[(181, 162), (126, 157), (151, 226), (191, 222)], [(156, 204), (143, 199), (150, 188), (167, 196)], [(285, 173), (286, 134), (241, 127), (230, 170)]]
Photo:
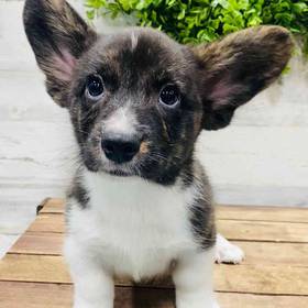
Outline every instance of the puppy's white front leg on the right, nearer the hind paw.
[(209, 249), (178, 260), (173, 275), (177, 308), (219, 308), (213, 293), (213, 254)]

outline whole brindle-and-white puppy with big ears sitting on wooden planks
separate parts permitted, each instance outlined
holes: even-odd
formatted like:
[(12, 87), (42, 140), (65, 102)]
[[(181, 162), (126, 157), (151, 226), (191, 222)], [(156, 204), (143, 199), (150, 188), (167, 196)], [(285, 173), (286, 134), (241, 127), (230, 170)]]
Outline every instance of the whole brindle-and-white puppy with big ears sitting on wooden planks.
[[(62, 0), (26, 0), (24, 25), (79, 146), (66, 210), (74, 307), (111, 308), (114, 277), (165, 273), (177, 308), (218, 307), (213, 202), (195, 143), (280, 75), (289, 34), (261, 26), (196, 47), (143, 28), (98, 35)], [(242, 258), (219, 242), (219, 261)]]

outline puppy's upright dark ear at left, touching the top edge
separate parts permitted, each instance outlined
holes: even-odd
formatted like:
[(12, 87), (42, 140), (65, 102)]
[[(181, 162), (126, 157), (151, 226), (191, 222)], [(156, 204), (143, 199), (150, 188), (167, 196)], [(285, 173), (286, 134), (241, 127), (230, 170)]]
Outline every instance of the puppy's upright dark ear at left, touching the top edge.
[(76, 62), (96, 41), (96, 33), (64, 0), (26, 0), (23, 21), (48, 94), (67, 107)]

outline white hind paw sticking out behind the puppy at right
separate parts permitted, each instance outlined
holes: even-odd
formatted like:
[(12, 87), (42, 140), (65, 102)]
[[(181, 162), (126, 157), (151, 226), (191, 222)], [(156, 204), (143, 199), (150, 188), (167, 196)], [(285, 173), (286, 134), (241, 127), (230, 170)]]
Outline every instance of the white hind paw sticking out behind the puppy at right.
[(217, 234), (216, 262), (239, 264), (244, 260), (244, 252), (237, 245), (230, 243), (222, 235)]

